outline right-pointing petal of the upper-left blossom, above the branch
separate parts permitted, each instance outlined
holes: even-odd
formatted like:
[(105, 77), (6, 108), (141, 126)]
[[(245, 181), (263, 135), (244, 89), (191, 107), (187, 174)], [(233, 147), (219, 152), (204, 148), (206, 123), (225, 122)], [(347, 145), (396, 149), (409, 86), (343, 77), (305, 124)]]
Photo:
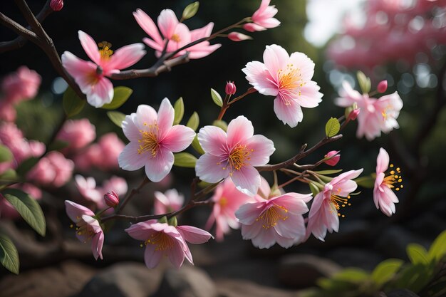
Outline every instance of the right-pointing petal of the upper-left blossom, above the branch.
[(107, 63), (108, 69), (124, 69), (140, 61), (145, 55), (144, 44), (134, 43), (118, 48)]

